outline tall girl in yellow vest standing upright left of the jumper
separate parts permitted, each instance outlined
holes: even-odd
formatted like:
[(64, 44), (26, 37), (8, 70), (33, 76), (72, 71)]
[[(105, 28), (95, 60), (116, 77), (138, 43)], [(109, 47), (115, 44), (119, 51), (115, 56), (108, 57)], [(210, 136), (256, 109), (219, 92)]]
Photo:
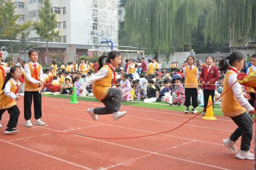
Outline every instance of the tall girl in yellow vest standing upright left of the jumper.
[(25, 92), (24, 92), (24, 118), (26, 119), (25, 126), (33, 127), (31, 119), (32, 97), (34, 101), (34, 118), (35, 125), (45, 125), (41, 121), (42, 117), (42, 96), (44, 77), (42, 66), (37, 63), (38, 52), (36, 50), (29, 51), (30, 62), (25, 65)]

